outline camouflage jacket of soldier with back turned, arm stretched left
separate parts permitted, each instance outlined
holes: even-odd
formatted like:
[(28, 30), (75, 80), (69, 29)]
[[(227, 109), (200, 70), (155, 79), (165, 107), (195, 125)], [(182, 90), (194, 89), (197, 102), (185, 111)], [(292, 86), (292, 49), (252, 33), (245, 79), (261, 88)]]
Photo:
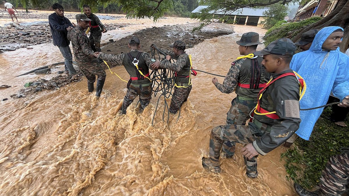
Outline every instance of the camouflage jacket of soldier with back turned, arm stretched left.
[[(133, 49), (130, 52), (139, 52), (139, 51)], [(126, 55), (127, 55), (127, 53), (121, 53), (121, 54), (118, 54), (118, 55), (101, 53), (101, 54), (98, 55), (98, 58), (100, 58), (102, 60), (105, 60), (105, 61), (110, 61), (110, 62), (112, 62), (116, 66), (120, 66), (120, 65), (123, 65), (123, 61), (124, 61), (124, 58), (125, 58)], [(146, 52), (142, 52), (141, 55), (142, 55), (142, 58), (144, 59), (144, 62), (146, 64), (146, 66), (148, 66), (148, 68), (151, 69), (150, 65), (153, 64), (153, 62), (151, 61), (150, 55), (148, 53), (146, 53)], [(134, 69), (128, 70), (128, 66), (127, 65), (124, 65), (124, 67), (126, 68), (126, 70), (127, 70), (127, 72), (129, 74), (134, 71)], [(149, 72), (149, 70), (148, 70), (148, 72)], [(149, 82), (150, 81), (147, 78), (145, 78), (144, 80), (132, 81), (132, 84), (146, 84), (146, 83), (149, 83)]]

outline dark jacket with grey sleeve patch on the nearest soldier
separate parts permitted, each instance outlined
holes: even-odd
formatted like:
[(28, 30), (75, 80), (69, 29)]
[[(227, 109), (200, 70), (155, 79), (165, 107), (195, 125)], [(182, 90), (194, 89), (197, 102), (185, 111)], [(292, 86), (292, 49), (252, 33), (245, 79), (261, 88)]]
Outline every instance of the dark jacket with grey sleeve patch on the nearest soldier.
[[(289, 69), (271, 75), (276, 78), (284, 73), (293, 73), (293, 71)], [(266, 115), (254, 114), (253, 122), (248, 124), (252, 132), (253, 129), (259, 129), (256, 127), (258, 122), (270, 128), (252, 143), (258, 153), (265, 155), (287, 141), (299, 128), (299, 85), (297, 78), (285, 76), (270, 84), (263, 92), (260, 107), (269, 112), (276, 111), (275, 114), (279, 116), (278, 119), (272, 119)]]

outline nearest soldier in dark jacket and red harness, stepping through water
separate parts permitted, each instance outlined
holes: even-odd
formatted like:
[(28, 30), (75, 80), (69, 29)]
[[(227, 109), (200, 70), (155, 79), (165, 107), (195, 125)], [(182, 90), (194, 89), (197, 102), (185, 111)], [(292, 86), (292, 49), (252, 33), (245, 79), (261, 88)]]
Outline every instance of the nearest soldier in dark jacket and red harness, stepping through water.
[[(272, 80), (260, 92), (253, 122), (244, 125), (222, 125), (212, 129), (209, 158), (202, 158), (202, 166), (220, 172), (220, 151), (225, 141), (244, 145), (246, 174), (256, 178), (257, 155), (265, 155), (291, 137), (299, 127), (299, 83), (289, 68), (296, 46), (290, 39), (278, 39), (265, 49), (255, 52), (263, 55), (262, 65), (272, 73)], [(275, 111), (273, 114), (267, 112)]]

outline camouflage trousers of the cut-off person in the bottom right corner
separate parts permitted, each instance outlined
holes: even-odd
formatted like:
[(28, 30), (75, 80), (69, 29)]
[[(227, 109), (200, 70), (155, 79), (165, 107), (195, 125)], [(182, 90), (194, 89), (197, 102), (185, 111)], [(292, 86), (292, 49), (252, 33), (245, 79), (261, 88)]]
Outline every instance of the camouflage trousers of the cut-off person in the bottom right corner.
[(342, 195), (349, 179), (349, 152), (330, 157), (320, 177), (320, 193), (326, 196)]

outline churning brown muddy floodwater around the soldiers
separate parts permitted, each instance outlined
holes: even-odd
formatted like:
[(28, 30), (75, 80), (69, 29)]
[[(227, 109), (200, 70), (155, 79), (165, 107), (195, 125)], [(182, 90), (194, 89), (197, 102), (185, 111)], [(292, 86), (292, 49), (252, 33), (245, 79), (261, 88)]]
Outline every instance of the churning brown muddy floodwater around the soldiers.
[[(233, 28), (231, 35), (205, 39), (186, 50), (193, 56), (195, 69), (225, 75), (239, 56), (236, 41), (240, 36), (255, 31), (262, 37), (266, 32), (243, 25)], [(118, 36), (123, 37), (122, 33)], [(30, 70), (62, 59), (51, 43), (34, 47), (0, 54), (1, 84), (8, 81), (22, 87), (38, 77), (13, 78), (23, 67)], [(128, 77), (123, 67), (112, 70)], [(257, 179), (245, 175), (239, 144), (233, 159), (221, 160), (221, 174), (203, 170), (201, 158), (208, 156), (210, 130), (225, 124), (236, 96), (218, 91), (212, 77), (200, 72), (193, 77), (193, 89), (179, 120), (171, 115), (168, 125), (158, 112), (151, 126), (157, 98), (142, 114), (135, 112), (136, 99), (127, 115), (118, 115), (126, 83), (109, 71), (99, 100), (87, 91), (83, 79), (57, 91), (1, 101), (0, 195), (296, 195), (293, 182), (285, 178), (282, 146), (259, 156)], [(12, 88), (0, 92), (12, 93), (8, 91), (16, 87)]]

